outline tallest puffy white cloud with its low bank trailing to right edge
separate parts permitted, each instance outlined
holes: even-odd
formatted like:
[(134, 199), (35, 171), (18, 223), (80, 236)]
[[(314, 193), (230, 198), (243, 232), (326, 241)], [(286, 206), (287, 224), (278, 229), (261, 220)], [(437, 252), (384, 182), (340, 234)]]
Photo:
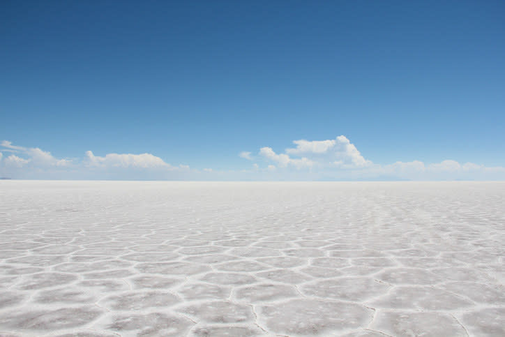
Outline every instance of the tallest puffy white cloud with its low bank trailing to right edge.
[[(502, 180), (505, 167), (485, 167), (475, 163), (443, 160), (425, 164), (419, 160), (389, 165), (372, 163), (344, 135), (334, 140), (294, 140), (295, 147), (276, 152), (259, 149), (264, 172), (282, 170), (283, 177), (307, 180)], [(250, 152), (247, 152), (250, 153)], [(259, 165), (254, 164), (259, 170)], [(280, 179), (280, 176), (278, 176)]]

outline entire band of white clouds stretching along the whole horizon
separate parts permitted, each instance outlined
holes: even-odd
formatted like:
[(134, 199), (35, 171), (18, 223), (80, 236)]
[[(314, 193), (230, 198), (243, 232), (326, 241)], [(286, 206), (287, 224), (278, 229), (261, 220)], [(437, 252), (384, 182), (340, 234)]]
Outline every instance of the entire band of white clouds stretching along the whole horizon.
[(505, 167), (476, 163), (397, 161), (372, 163), (344, 135), (334, 140), (294, 140), (295, 147), (276, 152), (262, 147), (247, 170), (201, 170), (172, 165), (151, 153), (86, 151), (82, 158), (55, 158), (38, 147), (21, 147), (8, 140), (0, 143), (0, 176), (13, 179), (116, 179), (116, 180), (505, 180)]

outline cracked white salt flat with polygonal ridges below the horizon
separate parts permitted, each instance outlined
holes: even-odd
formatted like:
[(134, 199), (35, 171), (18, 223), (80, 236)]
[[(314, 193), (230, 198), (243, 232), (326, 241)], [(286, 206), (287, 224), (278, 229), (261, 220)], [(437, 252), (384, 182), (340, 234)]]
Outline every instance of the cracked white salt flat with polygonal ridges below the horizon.
[(504, 183), (0, 181), (0, 336), (505, 336)]

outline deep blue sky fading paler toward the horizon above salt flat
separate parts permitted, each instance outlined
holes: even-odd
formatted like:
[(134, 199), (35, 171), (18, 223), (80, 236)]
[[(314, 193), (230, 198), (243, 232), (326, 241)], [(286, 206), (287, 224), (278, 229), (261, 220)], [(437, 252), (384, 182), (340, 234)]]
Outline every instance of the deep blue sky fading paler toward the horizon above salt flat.
[[(3, 1), (0, 174), (505, 179), (504, 13), (502, 1)], [(295, 140), (335, 144), (289, 154)], [(93, 166), (86, 151), (119, 157)], [(428, 169), (444, 160), (461, 167)], [(397, 162), (424, 168), (384, 168)]]

